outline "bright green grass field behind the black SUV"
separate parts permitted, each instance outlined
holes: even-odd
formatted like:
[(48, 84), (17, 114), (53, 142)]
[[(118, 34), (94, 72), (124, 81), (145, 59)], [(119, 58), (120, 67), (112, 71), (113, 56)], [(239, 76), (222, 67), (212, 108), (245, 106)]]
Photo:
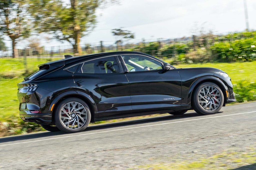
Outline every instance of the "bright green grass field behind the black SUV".
[[(54, 58), (57, 60), (58, 58)], [(17, 83), (38, 70), (37, 65), (50, 61), (49, 58), (27, 58), (28, 72), (25, 73), (24, 59), (0, 59), (0, 136), (24, 134), (41, 131), (42, 128), (34, 123), (23, 122), (19, 118), (19, 102), (17, 99)], [(168, 60), (166, 60), (168, 62)], [(235, 63), (204, 63), (180, 64), (177, 68), (185, 67), (214, 67), (229, 74), (234, 84), (234, 91), (239, 102), (256, 100), (256, 62)], [(125, 118), (124, 120), (131, 120)], [(123, 119), (122, 119), (123, 120)], [(95, 122), (106, 123), (116, 120)]]

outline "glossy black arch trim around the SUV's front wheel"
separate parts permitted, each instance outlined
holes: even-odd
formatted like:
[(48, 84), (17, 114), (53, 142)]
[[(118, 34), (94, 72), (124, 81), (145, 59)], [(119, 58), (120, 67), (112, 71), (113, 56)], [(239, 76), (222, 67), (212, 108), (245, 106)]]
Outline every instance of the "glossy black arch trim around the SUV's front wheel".
[[(220, 89), (221, 89), (221, 91), (222, 91), (222, 93), (224, 95), (224, 103), (223, 103), (223, 105), (225, 105), (226, 104), (226, 100), (225, 100), (225, 98), (226, 98), (226, 90), (228, 90), (228, 89), (227, 89), (226, 85), (220, 79), (218, 79), (217, 77), (214, 77), (214, 76), (201, 77), (201, 78), (197, 79), (190, 86), (189, 91), (188, 91), (188, 97), (187, 97), (188, 104), (191, 105), (191, 97), (193, 96), (195, 89), (200, 84), (205, 83), (205, 82), (212, 82), (212, 83), (217, 84), (220, 87)], [(191, 107), (193, 107), (193, 106), (191, 105)]]

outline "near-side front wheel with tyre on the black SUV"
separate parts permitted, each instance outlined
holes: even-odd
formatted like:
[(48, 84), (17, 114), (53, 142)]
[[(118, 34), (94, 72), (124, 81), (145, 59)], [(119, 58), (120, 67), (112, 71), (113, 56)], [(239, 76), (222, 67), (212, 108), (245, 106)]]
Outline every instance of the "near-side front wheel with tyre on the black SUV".
[(193, 109), (202, 115), (217, 113), (224, 102), (224, 96), (220, 87), (212, 82), (199, 85), (192, 97)]

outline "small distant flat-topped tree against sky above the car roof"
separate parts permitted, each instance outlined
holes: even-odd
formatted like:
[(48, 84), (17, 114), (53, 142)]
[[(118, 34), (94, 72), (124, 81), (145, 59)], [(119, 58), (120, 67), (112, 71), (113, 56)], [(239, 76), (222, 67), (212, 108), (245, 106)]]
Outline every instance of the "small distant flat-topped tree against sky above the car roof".
[(122, 30), (121, 28), (112, 29), (112, 34), (118, 37), (118, 40), (115, 42), (117, 46), (122, 46), (122, 41), (124, 39), (135, 38), (134, 33), (128, 30)]

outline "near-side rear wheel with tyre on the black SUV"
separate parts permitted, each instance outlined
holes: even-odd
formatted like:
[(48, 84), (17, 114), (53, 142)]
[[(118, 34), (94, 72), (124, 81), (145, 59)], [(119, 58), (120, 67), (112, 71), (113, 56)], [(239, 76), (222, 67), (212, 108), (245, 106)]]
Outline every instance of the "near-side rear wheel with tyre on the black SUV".
[(55, 124), (63, 132), (81, 132), (89, 125), (91, 112), (89, 106), (81, 99), (68, 98), (55, 110)]

